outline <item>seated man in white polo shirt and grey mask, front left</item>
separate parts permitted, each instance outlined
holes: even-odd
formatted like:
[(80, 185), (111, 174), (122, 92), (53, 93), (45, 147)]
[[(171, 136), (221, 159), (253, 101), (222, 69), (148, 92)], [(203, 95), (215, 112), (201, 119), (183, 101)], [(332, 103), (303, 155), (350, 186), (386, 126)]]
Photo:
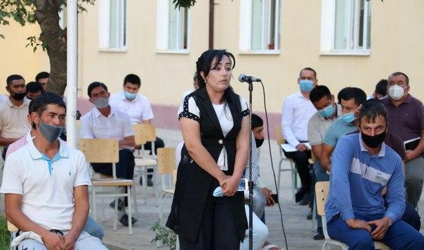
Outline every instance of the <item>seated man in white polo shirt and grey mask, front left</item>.
[(84, 154), (57, 139), (65, 117), (62, 98), (37, 98), (30, 114), (35, 137), (6, 160), (0, 193), (8, 220), (20, 229), (19, 250), (107, 249), (82, 231), (91, 181)]

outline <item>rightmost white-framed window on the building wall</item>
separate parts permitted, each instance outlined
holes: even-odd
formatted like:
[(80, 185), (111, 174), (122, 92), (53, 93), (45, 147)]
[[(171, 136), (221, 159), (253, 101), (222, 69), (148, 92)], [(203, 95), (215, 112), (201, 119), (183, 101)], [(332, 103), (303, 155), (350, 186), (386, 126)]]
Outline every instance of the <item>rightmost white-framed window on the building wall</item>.
[(336, 53), (369, 52), (371, 49), (369, 1), (323, 1), (321, 47), (322, 51)]

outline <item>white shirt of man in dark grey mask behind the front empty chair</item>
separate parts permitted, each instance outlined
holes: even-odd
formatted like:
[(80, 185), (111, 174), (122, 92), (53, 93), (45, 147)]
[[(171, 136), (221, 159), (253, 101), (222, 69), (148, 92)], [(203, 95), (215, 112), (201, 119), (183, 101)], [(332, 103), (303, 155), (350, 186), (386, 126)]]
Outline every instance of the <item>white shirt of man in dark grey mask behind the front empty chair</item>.
[(111, 107), (111, 114), (103, 116), (93, 107), (81, 118), (81, 137), (83, 139), (124, 139), (133, 136), (131, 119), (127, 114)]

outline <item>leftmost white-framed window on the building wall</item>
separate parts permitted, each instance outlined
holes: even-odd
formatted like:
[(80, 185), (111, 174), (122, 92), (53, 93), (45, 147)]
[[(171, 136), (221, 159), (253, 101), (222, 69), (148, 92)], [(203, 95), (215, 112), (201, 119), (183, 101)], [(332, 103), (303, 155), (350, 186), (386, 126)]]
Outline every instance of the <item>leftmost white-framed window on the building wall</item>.
[(127, 47), (127, 0), (99, 1), (99, 46), (117, 50)]

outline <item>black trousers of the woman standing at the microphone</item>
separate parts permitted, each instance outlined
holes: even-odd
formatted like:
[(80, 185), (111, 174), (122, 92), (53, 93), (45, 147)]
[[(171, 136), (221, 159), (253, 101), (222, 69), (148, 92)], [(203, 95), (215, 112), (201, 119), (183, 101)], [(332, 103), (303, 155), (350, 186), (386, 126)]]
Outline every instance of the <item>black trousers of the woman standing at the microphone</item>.
[(196, 241), (180, 237), (181, 250), (240, 249), (237, 226), (232, 216), (231, 197), (214, 197), (212, 192), (206, 198)]

